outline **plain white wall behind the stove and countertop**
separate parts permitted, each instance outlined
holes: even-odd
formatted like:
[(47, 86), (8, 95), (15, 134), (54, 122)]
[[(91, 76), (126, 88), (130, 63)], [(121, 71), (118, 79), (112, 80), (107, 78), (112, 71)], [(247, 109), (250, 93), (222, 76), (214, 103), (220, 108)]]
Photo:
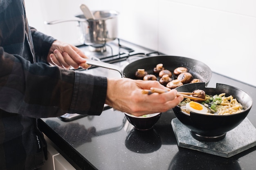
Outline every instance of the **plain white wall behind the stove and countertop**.
[[(256, 86), (256, 1), (254, 0), (25, 0), (31, 26), (79, 44), (72, 18), (85, 3), (92, 10), (114, 9), (119, 38), (168, 55), (191, 57), (217, 73)], [(37, 8), (35, 8), (37, 7)]]

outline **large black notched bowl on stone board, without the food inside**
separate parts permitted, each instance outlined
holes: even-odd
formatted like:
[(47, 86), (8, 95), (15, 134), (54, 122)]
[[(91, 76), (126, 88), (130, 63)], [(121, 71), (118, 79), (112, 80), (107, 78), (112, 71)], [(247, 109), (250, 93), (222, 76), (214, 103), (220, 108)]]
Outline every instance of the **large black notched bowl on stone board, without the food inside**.
[(175, 106), (173, 111), (176, 117), (190, 129), (193, 138), (200, 141), (219, 141), (224, 139), (229, 130), (238, 126), (248, 115), (252, 108), (252, 97), (239, 88), (216, 84), (216, 88), (207, 88), (205, 83), (192, 83), (175, 88), (180, 92), (193, 92), (196, 89), (205, 91), (207, 95), (219, 95), (226, 93), (225, 96), (232, 95), (243, 105), (244, 111), (232, 115), (204, 115), (190, 112), (190, 115), (181, 111), (180, 106)]

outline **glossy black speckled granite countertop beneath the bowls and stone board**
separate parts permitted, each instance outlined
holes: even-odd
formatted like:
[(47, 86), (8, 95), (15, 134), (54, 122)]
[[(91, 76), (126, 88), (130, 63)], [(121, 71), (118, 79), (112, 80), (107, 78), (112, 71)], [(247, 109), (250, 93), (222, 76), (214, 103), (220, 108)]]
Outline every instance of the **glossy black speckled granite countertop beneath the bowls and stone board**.
[[(256, 101), (256, 87), (213, 73), (208, 87), (228, 84), (246, 91)], [(173, 110), (163, 113), (149, 132), (139, 132), (124, 113), (112, 108), (100, 116), (64, 122), (59, 118), (40, 119), (39, 127), (59, 152), (82, 170), (254, 170), (256, 147), (230, 158), (177, 146), (171, 120)], [(247, 118), (256, 127), (256, 105)], [(241, 139), (243, 140), (243, 139)]]

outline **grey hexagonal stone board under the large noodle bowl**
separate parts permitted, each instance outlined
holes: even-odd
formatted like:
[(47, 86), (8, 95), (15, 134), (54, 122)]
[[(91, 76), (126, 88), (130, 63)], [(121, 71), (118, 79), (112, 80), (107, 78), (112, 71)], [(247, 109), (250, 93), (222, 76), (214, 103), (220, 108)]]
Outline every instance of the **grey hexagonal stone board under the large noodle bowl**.
[(189, 128), (184, 126), (177, 118), (172, 119), (171, 125), (178, 146), (182, 148), (189, 148), (228, 158), (256, 146), (256, 128), (247, 118), (236, 128), (227, 132), (224, 139), (216, 142), (205, 142), (194, 139), (190, 135)]

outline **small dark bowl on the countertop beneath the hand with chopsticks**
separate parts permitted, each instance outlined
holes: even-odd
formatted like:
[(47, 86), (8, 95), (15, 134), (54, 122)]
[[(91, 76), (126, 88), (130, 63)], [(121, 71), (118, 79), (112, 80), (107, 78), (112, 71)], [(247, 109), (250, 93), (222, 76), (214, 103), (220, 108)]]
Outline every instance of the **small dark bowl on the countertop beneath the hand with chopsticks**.
[(150, 130), (153, 128), (155, 123), (161, 116), (161, 113), (149, 114), (148, 117), (137, 117), (128, 113), (124, 113), (127, 120), (134, 126), (137, 130)]

